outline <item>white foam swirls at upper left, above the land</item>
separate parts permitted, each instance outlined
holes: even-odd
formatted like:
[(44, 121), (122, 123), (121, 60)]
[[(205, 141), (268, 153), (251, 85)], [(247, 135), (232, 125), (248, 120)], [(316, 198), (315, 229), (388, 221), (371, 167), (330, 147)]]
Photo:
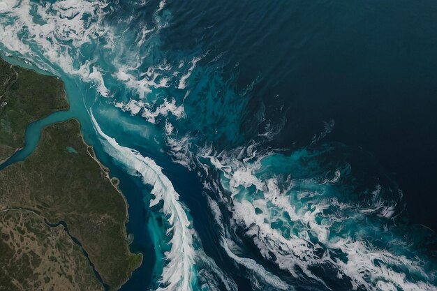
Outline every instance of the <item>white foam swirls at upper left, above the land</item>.
[[(0, 0), (0, 43), (9, 52), (33, 61), (37, 66), (58, 75), (59, 67), (68, 75), (78, 76), (85, 82), (95, 84), (101, 96), (112, 96), (107, 84), (110, 77), (122, 82), (126, 89), (138, 94), (144, 100), (142, 116), (151, 123), (160, 115), (173, 114), (184, 117), (184, 107), (174, 98), (165, 97), (164, 103), (156, 103), (156, 96), (147, 98), (154, 89), (167, 88), (172, 78), (179, 78), (182, 72), (171, 71), (170, 64), (149, 66), (145, 72), (140, 70), (143, 61), (152, 54), (151, 50), (159, 44), (158, 33), (168, 21), (168, 13), (163, 11), (165, 1), (159, 3), (153, 15), (154, 24), (135, 32), (135, 49), (126, 46), (121, 27), (112, 27), (105, 21), (105, 15), (112, 13), (108, 1), (61, 0), (36, 3), (31, 0)], [(128, 28), (126, 28), (126, 31)], [(120, 35), (121, 34), (121, 35)], [(126, 36), (127, 37), (127, 36)], [(98, 44), (102, 45), (98, 45)], [(85, 46), (96, 46), (96, 52), (84, 60), (81, 50)], [(126, 51), (129, 53), (126, 54)], [(110, 66), (101, 68), (97, 62), (101, 55)], [(82, 61), (83, 60), (83, 61)], [(184, 87), (200, 57), (194, 58), (186, 73), (182, 75), (179, 87)], [(150, 61), (150, 60), (149, 60)], [(188, 65), (188, 64), (187, 64)], [(161, 96), (160, 96), (161, 97)], [(119, 105), (123, 110), (132, 107), (136, 114), (138, 106), (133, 107), (138, 98), (127, 100)], [(138, 105), (137, 104), (137, 105)], [(152, 108), (155, 108), (152, 110)]]

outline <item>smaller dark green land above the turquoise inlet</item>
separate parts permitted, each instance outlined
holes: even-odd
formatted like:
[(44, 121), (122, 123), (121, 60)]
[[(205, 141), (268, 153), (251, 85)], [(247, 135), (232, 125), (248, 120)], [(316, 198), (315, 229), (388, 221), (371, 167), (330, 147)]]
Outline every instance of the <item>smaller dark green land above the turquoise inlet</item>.
[(24, 144), (27, 124), (68, 110), (64, 84), (0, 58), (0, 163)]

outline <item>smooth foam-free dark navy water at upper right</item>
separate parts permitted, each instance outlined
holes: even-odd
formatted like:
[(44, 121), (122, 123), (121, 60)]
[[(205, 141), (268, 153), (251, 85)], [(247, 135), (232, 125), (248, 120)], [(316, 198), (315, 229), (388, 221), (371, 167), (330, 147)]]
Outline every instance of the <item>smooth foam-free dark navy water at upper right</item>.
[[(406, 194), (410, 218), (437, 230), (434, 1), (187, 1), (172, 8), (175, 27), (164, 47), (190, 50), (200, 42), (225, 52), (230, 74), (238, 64), (236, 86), (260, 78), (253, 107), (262, 100), (269, 114), (281, 105), (285, 112), (277, 144), (306, 145), (334, 120), (325, 141), (376, 156)], [(190, 38), (181, 37), (184, 30)]]

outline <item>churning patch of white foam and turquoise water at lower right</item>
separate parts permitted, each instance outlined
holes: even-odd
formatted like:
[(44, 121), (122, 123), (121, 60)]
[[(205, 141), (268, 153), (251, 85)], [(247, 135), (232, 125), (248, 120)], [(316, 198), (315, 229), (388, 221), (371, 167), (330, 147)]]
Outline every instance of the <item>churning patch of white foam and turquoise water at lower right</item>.
[(199, 161), (207, 176), (218, 173), (220, 184), (210, 180), (205, 186), (222, 207), (212, 200), (209, 206), (216, 215), (227, 211), (230, 227), (240, 231), (235, 241), (250, 239), (263, 260), (292, 276), (292, 285), (436, 290), (435, 265), (420, 257), (413, 234), (394, 223), (400, 193), (380, 184), (358, 193), (348, 185), (348, 164), (314, 176), (326, 154), (328, 149), (289, 155), (206, 149)]

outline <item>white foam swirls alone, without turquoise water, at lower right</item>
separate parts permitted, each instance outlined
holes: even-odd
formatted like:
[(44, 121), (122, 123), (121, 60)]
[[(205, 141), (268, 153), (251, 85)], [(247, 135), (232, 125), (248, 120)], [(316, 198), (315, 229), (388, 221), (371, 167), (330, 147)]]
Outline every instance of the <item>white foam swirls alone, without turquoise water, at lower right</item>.
[[(235, 151), (234, 154), (222, 152), (215, 154), (211, 148), (205, 149), (202, 153), (203, 158), (209, 158), (209, 161), (216, 170), (219, 170), (225, 183), (224, 187), (230, 191), (231, 202), (226, 202), (226, 197), (220, 187), (212, 186), (212, 191), (221, 195), (224, 204), (233, 216), (236, 225), (246, 230), (247, 237), (252, 237), (253, 242), (260, 250), (261, 255), (272, 262), (275, 262), (281, 269), (288, 271), (295, 278), (312, 278), (321, 284), (323, 280), (311, 271), (312, 267), (328, 265), (337, 270), (337, 276), (350, 278), (353, 289), (365, 288), (366, 290), (390, 290), (390, 288), (400, 288), (401, 290), (433, 290), (436, 288), (432, 282), (436, 274), (427, 272), (422, 269), (420, 260), (410, 260), (403, 255), (394, 254), (386, 249), (377, 248), (369, 241), (360, 237), (360, 234), (343, 237), (332, 232), (332, 223), (342, 219), (363, 219), (360, 216), (369, 214), (378, 214), (384, 218), (390, 218), (394, 211), (393, 204), (386, 204), (380, 198), (380, 188), (373, 191), (371, 200), (368, 204), (344, 204), (339, 203), (335, 197), (322, 195), (322, 193), (305, 193), (296, 197), (305, 197), (307, 200), (304, 205), (309, 203), (311, 207), (306, 208), (299, 200), (294, 200), (291, 191), (295, 183), (304, 184), (335, 184), (340, 179), (340, 172), (335, 171), (334, 177), (325, 181), (288, 181), (288, 186), (283, 188), (280, 183), (280, 177), (270, 177), (260, 179), (256, 172), (262, 169), (261, 162), (267, 156), (258, 156), (257, 159), (250, 159), (250, 162), (244, 162), (245, 149)], [(252, 151), (252, 150), (251, 150)], [(238, 154), (239, 152), (239, 154)], [(236, 156), (239, 158), (236, 158)], [(253, 156), (253, 151), (251, 156)], [(246, 160), (247, 161), (247, 160)], [(254, 162), (255, 161), (255, 162)], [(281, 184), (281, 186), (280, 186)], [(208, 187), (208, 186), (207, 186)], [(255, 195), (255, 188), (262, 196)], [(308, 191), (307, 191), (308, 192)], [(251, 194), (253, 193), (253, 194)], [(252, 198), (255, 195), (256, 198)], [(209, 203), (214, 213), (219, 212), (214, 203)], [(232, 207), (230, 206), (232, 205)], [(338, 207), (339, 213), (334, 213), (327, 217), (325, 209)], [(261, 211), (255, 211), (255, 208)], [(348, 211), (348, 212), (345, 212)], [(283, 214), (287, 214), (290, 221), (284, 220)], [(352, 215), (348, 217), (346, 215)], [(322, 218), (321, 223), (318, 218)], [(283, 223), (283, 232), (272, 223)], [(299, 230), (292, 230), (293, 225), (302, 225)], [(363, 225), (366, 227), (366, 225)], [(370, 227), (370, 226), (368, 226)], [(319, 243), (311, 242), (311, 236), (316, 236)], [(323, 248), (327, 248), (323, 251)], [(229, 250), (226, 250), (230, 258), (234, 258)], [(332, 257), (331, 252), (346, 254), (346, 262)], [(274, 258), (271, 254), (274, 254)], [(396, 267), (393, 267), (396, 266)], [(406, 276), (406, 273), (417, 274), (423, 281), (412, 281)], [(327, 286), (325, 286), (327, 287)]]

